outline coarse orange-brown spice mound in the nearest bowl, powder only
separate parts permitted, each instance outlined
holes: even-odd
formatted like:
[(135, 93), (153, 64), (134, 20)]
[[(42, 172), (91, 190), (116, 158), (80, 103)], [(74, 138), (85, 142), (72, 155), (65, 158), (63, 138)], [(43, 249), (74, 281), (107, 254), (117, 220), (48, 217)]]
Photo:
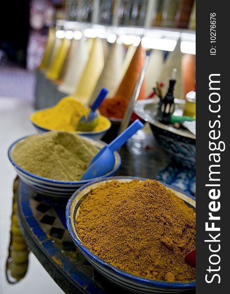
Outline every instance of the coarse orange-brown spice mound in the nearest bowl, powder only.
[(82, 243), (129, 273), (170, 282), (195, 280), (184, 262), (195, 248), (195, 213), (156, 180), (110, 181), (80, 204)]

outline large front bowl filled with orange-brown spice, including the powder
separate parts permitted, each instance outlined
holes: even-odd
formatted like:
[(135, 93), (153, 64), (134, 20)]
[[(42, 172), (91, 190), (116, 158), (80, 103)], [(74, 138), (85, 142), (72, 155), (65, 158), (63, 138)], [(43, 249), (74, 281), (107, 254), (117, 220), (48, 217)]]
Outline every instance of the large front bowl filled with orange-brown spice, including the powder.
[(69, 199), (69, 233), (92, 266), (136, 293), (196, 287), (185, 255), (196, 245), (195, 198), (156, 180), (110, 177)]

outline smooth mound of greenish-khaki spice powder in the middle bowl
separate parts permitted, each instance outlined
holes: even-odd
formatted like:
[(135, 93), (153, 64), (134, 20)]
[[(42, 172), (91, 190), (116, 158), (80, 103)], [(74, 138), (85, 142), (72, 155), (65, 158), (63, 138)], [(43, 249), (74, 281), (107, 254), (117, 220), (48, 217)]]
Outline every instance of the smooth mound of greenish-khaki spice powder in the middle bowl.
[(53, 180), (78, 181), (98, 151), (76, 134), (50, 131), (16, 144), (12, 157), (27, 172)]

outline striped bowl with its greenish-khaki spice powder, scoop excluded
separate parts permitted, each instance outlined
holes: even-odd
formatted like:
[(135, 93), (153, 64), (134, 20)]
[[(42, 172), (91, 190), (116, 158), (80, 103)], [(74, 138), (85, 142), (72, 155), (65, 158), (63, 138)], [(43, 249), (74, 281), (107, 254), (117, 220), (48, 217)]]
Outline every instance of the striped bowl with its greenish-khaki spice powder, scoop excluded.
[[(90, 160), (106, 144), (64, 131), (49, 131), (23, 137), (8, 149), (8, 158), (19, 177), (38, 194), (52, 199), (68, 199), (79, 187), (97, 178), (81, 180)], [(120, 168), (121, 157), (114, 152), (113, 169)]]

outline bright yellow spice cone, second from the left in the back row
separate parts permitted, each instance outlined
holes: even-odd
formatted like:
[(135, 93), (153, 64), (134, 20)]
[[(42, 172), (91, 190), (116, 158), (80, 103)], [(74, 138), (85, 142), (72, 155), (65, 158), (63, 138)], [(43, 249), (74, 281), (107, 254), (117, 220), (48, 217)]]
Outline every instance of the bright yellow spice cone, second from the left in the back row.
[(56, 57), (54, 58), (49, 71), (47, 72), (46, 76), (50, 79), (56, 80), (59, 77), (61, 72), (63, 63), (67, 56), (67, 52), (70, 48), (71, 40), (69, 39), (62, 39), (62, 44), (60, 49), (58, 50)]

